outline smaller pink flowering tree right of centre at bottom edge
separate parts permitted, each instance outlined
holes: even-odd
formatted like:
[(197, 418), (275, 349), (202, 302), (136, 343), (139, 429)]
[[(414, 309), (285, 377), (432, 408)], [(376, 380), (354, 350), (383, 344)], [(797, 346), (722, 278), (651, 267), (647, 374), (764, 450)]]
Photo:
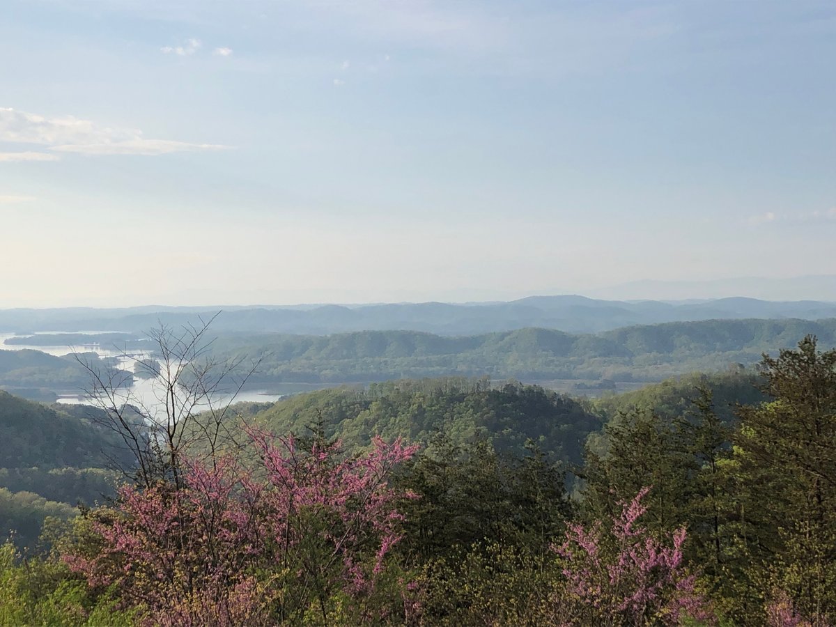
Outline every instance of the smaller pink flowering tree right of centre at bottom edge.
[(572, 624), (681, 624), (686, 616), (713, 622), (695, 577), (682, 563), (685, 528), (663, 542), (640, 526), (648, 492), (642, 488), (622, 503), (609, 528), (600, 521), (591, 527), (569, 524), (563, 543), (553, 547), (566, 579), (555, 600)]

